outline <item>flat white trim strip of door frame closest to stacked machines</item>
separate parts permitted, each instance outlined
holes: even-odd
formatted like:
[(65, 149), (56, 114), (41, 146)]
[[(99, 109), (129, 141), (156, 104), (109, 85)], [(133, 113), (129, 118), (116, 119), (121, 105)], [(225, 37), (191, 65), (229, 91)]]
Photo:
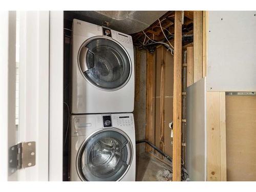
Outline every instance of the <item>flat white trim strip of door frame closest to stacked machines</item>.
[(50, 11), (49, 181), (63, 172), (63, 11)]

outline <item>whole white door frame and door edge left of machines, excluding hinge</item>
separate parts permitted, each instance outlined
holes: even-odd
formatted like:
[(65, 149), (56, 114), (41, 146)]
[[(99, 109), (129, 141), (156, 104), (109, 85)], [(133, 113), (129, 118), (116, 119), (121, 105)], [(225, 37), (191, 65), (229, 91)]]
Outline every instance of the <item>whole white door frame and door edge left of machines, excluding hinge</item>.
[[(63, 11), (20, 12), (19, 124), (15, 125), (16, 12), (0, 12), (0, 180), (62, 181)], [(36, 142), (35, 166), (8, 176), (8, 150)]]

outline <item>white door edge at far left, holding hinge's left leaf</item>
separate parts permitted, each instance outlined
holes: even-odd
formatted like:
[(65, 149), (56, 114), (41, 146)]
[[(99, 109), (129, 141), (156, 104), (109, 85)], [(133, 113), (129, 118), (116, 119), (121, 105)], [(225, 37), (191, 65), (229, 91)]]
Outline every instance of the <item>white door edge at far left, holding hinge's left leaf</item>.
[(16, 12), (0, 11), (0, 180), (15, 181), (17, 172), (8, 176), (8, 149), (15, 145)]

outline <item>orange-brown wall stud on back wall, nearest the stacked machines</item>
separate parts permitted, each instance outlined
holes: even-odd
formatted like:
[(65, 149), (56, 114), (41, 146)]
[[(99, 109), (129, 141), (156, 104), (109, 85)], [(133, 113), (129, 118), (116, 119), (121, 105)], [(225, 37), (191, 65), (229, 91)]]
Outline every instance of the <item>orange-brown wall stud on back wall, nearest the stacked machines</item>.
[[(154, 55), (146, 52), (146, 139), (154, 143), (153, 125), (153, 77), (154, 75)], [(146, 145), (146, 152), (152, 151), (152, 147)]]

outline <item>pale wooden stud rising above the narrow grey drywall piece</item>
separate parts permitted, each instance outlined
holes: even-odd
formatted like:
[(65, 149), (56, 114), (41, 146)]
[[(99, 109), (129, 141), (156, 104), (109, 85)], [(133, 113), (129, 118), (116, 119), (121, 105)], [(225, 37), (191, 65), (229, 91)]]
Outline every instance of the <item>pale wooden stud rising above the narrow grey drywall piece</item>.
[(203, 77), (203, 12), (194, 11), (194, 82)]

